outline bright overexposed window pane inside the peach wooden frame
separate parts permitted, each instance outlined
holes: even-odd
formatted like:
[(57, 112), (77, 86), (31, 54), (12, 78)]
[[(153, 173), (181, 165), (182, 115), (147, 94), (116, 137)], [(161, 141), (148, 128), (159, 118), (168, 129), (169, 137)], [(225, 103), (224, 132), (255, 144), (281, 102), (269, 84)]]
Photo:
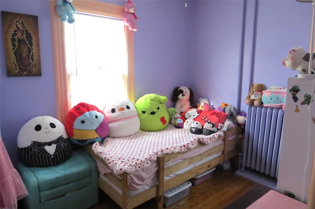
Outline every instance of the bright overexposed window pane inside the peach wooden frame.
[(80, 102), (103, 109), (127, 98), (127, 47), (122, 20), (77, 13), (64, 25), (70, 107)]

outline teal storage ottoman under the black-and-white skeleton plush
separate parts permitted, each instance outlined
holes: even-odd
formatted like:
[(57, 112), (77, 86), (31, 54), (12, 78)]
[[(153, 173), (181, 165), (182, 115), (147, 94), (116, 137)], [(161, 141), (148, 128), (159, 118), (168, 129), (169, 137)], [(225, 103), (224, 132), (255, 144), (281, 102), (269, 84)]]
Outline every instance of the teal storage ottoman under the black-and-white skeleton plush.
[(98, 203), (96, 162), (80, 149), (56, 166), (19, 163), (17, 170), (29, 192), (21, 200), (23, 209), (88, 209)]

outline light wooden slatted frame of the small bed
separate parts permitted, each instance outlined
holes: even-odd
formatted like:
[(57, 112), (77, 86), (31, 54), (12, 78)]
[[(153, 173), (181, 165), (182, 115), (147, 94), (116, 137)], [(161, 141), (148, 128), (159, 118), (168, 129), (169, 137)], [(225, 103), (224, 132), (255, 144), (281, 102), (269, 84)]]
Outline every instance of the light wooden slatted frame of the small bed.
[[(158, 209), (163, 208), (163, 193), (170, 188), (173, 188), (183, 182), (188, 181), (189, 179), (207, 171), (211, 168), (219, 165), (220, 163), (228, 160), (232, 157), (235, 157), (240, 152), (241, 148), (241, 139), (242, 139), (242, 130), (241, 127), (235, 127), (231, 130), (228, 130), (224, 133), (223, 136), (220, 136), (218, 140), (223, 139), (224, 143), (220, 144), (216, 147), (211, 148), (210, 150), (205, 151), (204, 153), (190, 157), (186, 160), (180, 161), (178, 163), (172, 164), (171, 166), (165, 167), (165, 162), (179, 157), (185, 153), (191, 152), (195, 149), (198, 149), (202, 146), (205, 146), (203, 143), (198, 143), (196, 147), (193, 149), (189, 149), (186, 152), (182, 153), (173, 153), (166, 154), (158, 157), (158, 184), (154, 187), (151, 187), (139, 194), (136, 194), (132, 197), (128, 197), (128, 188), (127, 188), (127, 173), (123, 173), (120, 175), (119, 179), (112, 173), (106, 173), (104, 176), (110, 180), (111, 183), (116, 185), (121, 189), (122, 193), (118, 192), (115, 188), (113, 188), (109, 183), (104, 181), (102, 178), (98, 177), (98, 185), (99, 187), (112, 199), (114, 200), (121, 208), (123, 209), (132, 209), (135, 208), (142, 203), (154, 198), (158, 197)], [(231, 138), (232, 137), (232, 138)], [(98, 159), (100, 162), (104, 162), (104, 160), (96, 155), (92, 150), (92, 145), (84, 146), (84, 150), (92, 155), (95, 159)], [(164, 176), (168, 176), (176, 171), (179, 171), (195, 162), (198, 162), (206, 157), (211, 155), (221, 153), (220, 156), (215, 157), (207, 162), (204, 162), (188, 171), (176, 175), (175, 177), (170, 178), (169, 180), (164, 181)], [(106, 165), (106, 163), (104, 162)], [(107, 165), (106, 165), (107, 166)]]

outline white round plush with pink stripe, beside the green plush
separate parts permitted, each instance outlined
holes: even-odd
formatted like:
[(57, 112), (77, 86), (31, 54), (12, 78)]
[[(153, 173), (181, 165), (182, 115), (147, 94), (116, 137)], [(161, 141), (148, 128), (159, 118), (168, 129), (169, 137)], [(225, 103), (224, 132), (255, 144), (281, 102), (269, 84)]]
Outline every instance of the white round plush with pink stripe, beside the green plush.
[(104, 113), (108, 120), (108, 136), (129, 136), (140, 129), (135, 104), (128, 99), (117, 99), (106, 104)]

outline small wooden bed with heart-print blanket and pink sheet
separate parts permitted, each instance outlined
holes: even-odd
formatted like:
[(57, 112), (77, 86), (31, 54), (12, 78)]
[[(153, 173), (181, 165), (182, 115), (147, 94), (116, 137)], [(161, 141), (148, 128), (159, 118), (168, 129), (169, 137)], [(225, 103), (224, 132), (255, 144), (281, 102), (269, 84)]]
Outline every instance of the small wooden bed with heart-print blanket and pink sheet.
[[(165, 191), (237, 156), (241, 134), (238, 126), (206, 136), (169, 125), (162, 131), (139, 131), (129, 137), (107, 138), (102, 144), (95, 142), (83, 148), (97, 162), (99, 188), (121, 208), (131, 209), (156, 198), (157, 208), (162, 209)], [(178, 138), (178, 143), (169, 145), (169, 141)], [(151, 144), (151, 139), (158, 140), (158, 147)], [(138, 145), (139, 141), (146, 147), (154, 147), (151, 154)], [(135, 152), (130, 152), (133, 149), (126, 145), (129, 142), (140, 146), (142, 156), (133, 156)], [(166, 148), (160, 144), (165, 144)], [(117, 153), (126, 153), (128, 157)], [(139, 173), (145, 176), (139, 179)]]

